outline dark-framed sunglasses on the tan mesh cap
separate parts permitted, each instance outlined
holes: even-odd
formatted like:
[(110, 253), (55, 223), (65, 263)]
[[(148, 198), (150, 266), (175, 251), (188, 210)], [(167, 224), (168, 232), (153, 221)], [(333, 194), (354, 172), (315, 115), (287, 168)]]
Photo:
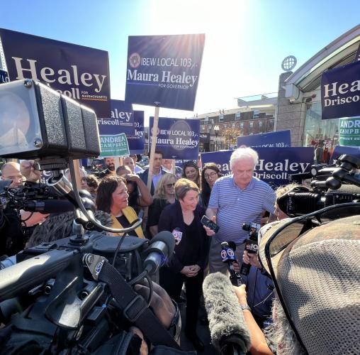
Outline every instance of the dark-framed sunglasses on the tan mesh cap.
[[(333, 206), (320, 209), (319, 211), (312, 212), (310, 214), (304, 214), (303, 216), (291, 219), (289, 222), (284, 223), (283, 226), (280, 226), (279, 229), (276, 229), (274, 234), (272, 234), (269, 237), (269, 240), (266, 241), (264, 253), (266, 263), (269, 266), (271, 278), (274, 282), (277, 295), (286, 314), (288, 322), (301, 345), (303, 345), (303, 342), (298, 334), (298, 330), (296, 329), (293, 320), (291, 319), (291, 315), (290, 312), (288, 312), (286, 303), (283, 300), (278, 280), (276, 280), (276, 261), (279, 261), (281, 251), (284, 251), (287, 246), (293, 244), (293, 242), (295, 242), (298, 238), (301, 238), (301, 236), (303, 236), (306, 231), (316, 228), (317, 226), (320, 226), (326, 222), (344, 217), (356, 216), (357, 214), (360, 214), (360, 203), (349, 202), (335, 204)], [(305, 349), (305, 346), (303, 346), (303, 348)]]

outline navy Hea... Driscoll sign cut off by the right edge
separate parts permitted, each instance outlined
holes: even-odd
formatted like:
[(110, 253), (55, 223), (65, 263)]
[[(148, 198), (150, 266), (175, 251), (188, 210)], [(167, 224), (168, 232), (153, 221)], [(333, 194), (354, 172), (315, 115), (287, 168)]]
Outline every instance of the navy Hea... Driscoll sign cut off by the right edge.
[(322, 119), (360, 115), (360, 60), (321, 76)]

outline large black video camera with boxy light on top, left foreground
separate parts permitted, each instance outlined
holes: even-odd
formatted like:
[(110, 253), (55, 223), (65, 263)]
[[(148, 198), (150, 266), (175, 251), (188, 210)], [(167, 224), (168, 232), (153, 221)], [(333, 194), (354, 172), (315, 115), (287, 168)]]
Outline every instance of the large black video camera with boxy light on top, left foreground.
[[(74, 159), (100, 154), (94, 111), (33, 80), (1, 84), (0, 108), (0, 124), (13, 118), (0, 156), (38, 158), (39, 170), (52, 170), (45, 185), (3, 186), (4, 202), (75, 215), (72, 236), (26, 249), (15, 265), (0, 271), (0, 323), (6, 325), (0, 330), (0, 353), (111, 354), (129, 343), (128, 322), (150, 343), (179, 349), (149, 308), (150, 276), (174, 252), (174, 237), (167, 231), (150, 242), (125, 237), (141, 219), (125, 229), (103, 226), (94, 218), (94, 204), (77, 189)], [(61, 173), (68, 166), (72, 183)], [(147, 300), (133, 290), (144, 278)]]

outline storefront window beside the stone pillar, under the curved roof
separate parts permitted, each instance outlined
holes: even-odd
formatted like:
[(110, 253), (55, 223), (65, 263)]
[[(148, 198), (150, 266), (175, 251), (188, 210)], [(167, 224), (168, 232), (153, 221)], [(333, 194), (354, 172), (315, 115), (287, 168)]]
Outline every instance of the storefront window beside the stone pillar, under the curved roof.
[(334, 147), (339, 144), (338, 141), (339, 119), (321, 119), (321, 102), (307, 104), (303, 146), (322, 146), (331, 154)]

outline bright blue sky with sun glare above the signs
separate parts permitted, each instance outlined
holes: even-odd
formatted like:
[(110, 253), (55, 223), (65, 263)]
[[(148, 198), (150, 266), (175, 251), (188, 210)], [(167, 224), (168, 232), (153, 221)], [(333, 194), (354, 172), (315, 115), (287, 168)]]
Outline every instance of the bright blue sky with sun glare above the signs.
[(107, 50), (112, 99), (125, 99), (128, 35), (206, 33), (194, 111), (160, 109), (191, 117), (276, 92), (283, 58), (300, 67), (359, 22), (358, 0), (3, 0), (0, 27)]

